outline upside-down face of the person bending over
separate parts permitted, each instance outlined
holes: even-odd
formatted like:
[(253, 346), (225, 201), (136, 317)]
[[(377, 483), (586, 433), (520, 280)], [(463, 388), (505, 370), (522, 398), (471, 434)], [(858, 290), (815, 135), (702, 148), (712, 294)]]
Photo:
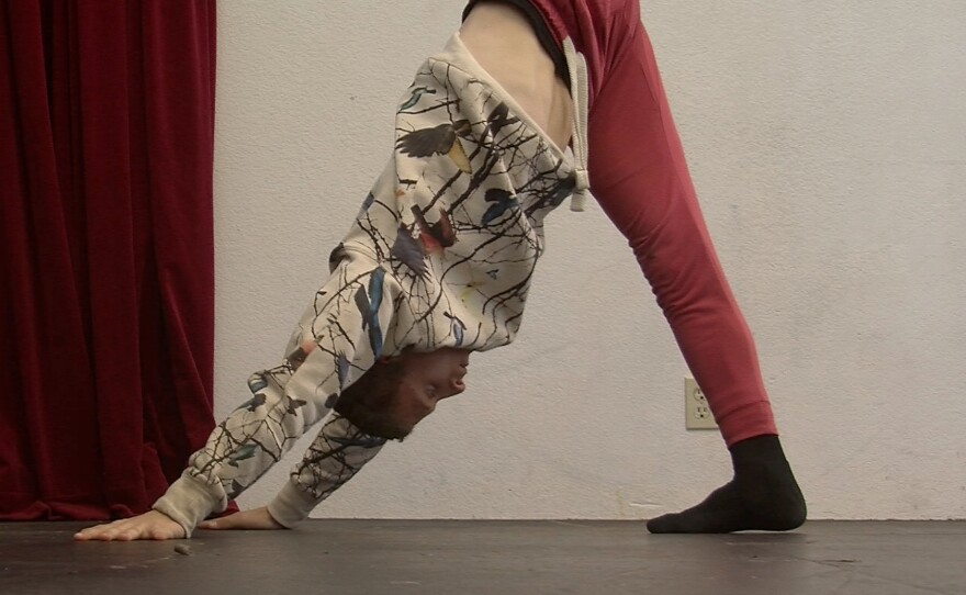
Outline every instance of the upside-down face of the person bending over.
[(396, 357), (404, 369), (389, 417), (395, 426), (394, 433), (402, 438), (433, 413), (437, 403), (467, 390), (463, 378), (470, 364), (470, 351), (446, 347)]

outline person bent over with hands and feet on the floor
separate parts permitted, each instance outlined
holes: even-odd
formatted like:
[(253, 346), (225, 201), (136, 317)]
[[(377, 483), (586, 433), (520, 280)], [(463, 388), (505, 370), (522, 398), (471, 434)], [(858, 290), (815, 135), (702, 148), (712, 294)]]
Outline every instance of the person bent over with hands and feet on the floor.
[[(499, 34), (495, 34), (498, 32)], [(788, 530), (806, 504), (704, 224), (637, 0), (471, 1), (396, 109), (393, 155), (283, 362), (249, 379), (181, 479), (79, 540), (294, 527), (516, 335), (543, 218), (593, 198), (628, 238), (708, 397), (734, 476), (652, 532)], [(564, 149), (571, 147), (572, 151)], [(266, 507), (214, 520), (325, 418)]]

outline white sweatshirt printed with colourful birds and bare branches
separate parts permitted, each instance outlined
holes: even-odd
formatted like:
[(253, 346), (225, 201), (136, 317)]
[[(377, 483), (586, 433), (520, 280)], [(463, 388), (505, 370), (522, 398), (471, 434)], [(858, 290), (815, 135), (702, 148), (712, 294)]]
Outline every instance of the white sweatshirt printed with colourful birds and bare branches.
[[(453, 35), (396, 111), (392, 158), (333, 250), (284, 361), (249, 379), (251, 397), (215, 428), (155, 508), (190, 536), (251, 485), (381, 355), (487, 350), (519, 328), (543, 250), (543, 217), (575, 168)], [(305, 518), (383, 446), (332, 414), (269, 504)]]

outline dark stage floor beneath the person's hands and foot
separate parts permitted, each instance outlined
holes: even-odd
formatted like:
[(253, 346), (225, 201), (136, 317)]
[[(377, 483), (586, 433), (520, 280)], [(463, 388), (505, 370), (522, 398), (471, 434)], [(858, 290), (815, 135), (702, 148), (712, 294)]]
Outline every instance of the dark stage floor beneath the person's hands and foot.
[(0, 594), (966, 594), (966, 521), (653, 536), (622, 521), (313, 520), (75, 543), (86, 525), (0, 524)]

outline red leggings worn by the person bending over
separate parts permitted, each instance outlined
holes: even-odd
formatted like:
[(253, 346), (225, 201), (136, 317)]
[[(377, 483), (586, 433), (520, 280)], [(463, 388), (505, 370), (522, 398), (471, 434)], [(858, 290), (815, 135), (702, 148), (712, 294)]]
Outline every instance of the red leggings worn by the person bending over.
[(637, 0), (512, 3), (539, 14), (538, 34), (549, 30), (558, 47), (570, 37), (587, 61), (591, 190), (628, 238), (726, 442), (777, 434), (754, 341), (701, 217)]

